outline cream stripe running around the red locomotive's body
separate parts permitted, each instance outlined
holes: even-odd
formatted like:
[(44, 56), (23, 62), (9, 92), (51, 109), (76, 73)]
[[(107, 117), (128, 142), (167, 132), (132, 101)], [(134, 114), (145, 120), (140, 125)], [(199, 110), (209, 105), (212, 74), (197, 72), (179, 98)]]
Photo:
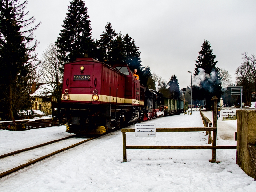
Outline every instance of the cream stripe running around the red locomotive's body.
[[(63, 98), (62, 97), (61, 99)], [(111, 103), (116, 102), (116, 97), (111, 97)], [(71, 101), (92, 101), (92, 94), (69, 94), (69, 100)], [(101, 102), (109, 102), (109, 96), (108, 95), (99, 95), (99, 100)], [(144, 105), (144, 101), (135, 100), (135, 99), (125, 99), (121, 97), (117, 97), (117, 103), (127, 103), (127, 104), (140, 104)]]

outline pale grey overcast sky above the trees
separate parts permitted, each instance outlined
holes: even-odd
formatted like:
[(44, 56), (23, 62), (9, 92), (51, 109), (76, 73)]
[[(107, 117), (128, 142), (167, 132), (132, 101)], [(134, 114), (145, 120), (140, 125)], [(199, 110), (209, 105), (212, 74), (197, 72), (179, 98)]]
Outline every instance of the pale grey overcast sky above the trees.
[[(35, 35), (41, 55), (56, 41), (70, 0), (28, 0), (27, 10), (42, 22)], [(217, 67), (230, 72), (242, 62), (241, 53), (256, 54), (256, 1), (121, 1), (87, 0), (92, 37), (100, 38), (107, 22), (116, 32), (129, 33), (149, 65), (164, 79), (175, 74), (180, 88), (190, 84), (190, 74), (204, 39), (212, 46)]]

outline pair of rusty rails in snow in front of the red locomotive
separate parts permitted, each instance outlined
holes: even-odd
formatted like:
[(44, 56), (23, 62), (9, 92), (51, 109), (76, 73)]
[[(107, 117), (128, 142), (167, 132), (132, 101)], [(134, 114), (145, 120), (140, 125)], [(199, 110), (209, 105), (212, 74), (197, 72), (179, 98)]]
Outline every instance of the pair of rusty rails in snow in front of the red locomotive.
[[(115, 131), (116, 131), (116, 130), (115, 130)], [(75, 137), (75, 136), (76, 136), (76, 135), (72, 135), (72, 136), (69, 136), (69, 137), (62, 138), (62, 139), (58, 139), (58, 140), (50, 141), (50, 142), (43, 143), (43, 144), (40, 144), (40, 145), (36, 145), (36, 146), (30, 147), (30, 148), (25, 148), (25, 149), (22, 149), (22, 150), (18, 150), (18, 151), (14, 151), (14, 152), (11, 152), (11, 153), (7, 153), (7, 154), (4, 154), (4, 155), (1, 155), (0, 158), (5, 158), (5, 157), (8, 157), (8, 156), (12, 156), (12, 155), (18, 154), (18, 153), (22, 153), (22, 152), (29, 151), (29, 150), (32, 150), (32, 149), (36, 149), (36, 148), (39, 148), (39, 147), (42, 147), (42, 146), (45, 146), (45, 145), (49, 145), (49, 144), (52, 144), (52, 143), (59, 142), (59, 141), (61, 141), (61, 140), (67, 140), (67, 139), (70, 139), (70, 138)], [(101, 135), (100, 135), (100, 136), (101, 136)], [(81, 142), (78, 142), (78, 143), (76, 143), (76, 144), (70, 145), (70, 146), (68, 146), (68, 147), (62, 148), (62, 149), (60, 149), (60, 150), (54, 151), (54, 152), (52, 152), (52, 153), (49, 153), (49, 154), (47, 154), (47, 155), (44, 155), (44, 156), (42, 156), (42, 157), (39, 157), (39, 158), (34, 159), (34, 160), (32, 160), (32, 161), (29, 161), (28, 163), (21, 164), (20, 166), (17, 166), (17, 167), (14, 167), (14, 168), (12, 168), (12, 169), (9, 169), (9, 170), (7, 170), (7, 171), (5, 171), (5, 172), (0, 173), (0, 178), (2, 178), (2, 177), (4, 177), (4, 176), (7, 176), (7, 175), (9, 175), (9, 174), (11, 174), (11, 173), (13, 173), (13, 172), (16, 172), (16, 171), (18, 171), (18, 170), (20, 170), (20, 169), (23, 169), (23, 168), (25, 168), (25, 167), (28, 167), (29, 165), (35, 164), (36, 162), (42, 161), (42, 160), (44, 160), (44, 159), (46, 159), (46, 158), (48, 158), (48, 157), (50, 157), (50, 156), (53, 156), (53, 155), (55, 155), (55, 154), (58, 154), (58, 153), (60, 153), (60, 152), (62, 152), (62, 151), (68, 150), (68, 149), (70, 149), (70, 148), (76, 147), (77, 145), (80, 145), (80, 144), (85, 143), (85, 142), (87, 142), (87, 141), (90, 141), (90, 140), (93, 140), (93, 139), (95, 139), (95, 138), (98, 138), (98, 137), (100, 137), (100, 136), (96, 136), (96, 137), (92, 137), (92, 138), (89, 138), (89, 139), (85, 139), (85, 140), (83, 140), (83, 141), (81, 141)]]

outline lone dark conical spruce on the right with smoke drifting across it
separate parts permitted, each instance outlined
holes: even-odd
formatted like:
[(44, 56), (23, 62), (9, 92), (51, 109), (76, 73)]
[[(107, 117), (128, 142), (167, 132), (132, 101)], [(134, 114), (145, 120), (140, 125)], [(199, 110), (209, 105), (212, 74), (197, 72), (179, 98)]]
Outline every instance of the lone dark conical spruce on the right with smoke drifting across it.
[(218, 75), (219, 68), (215, 67), (218, 61), (214, 61), (216, 56), (212, 53), (211, 44), (207, 40), (204, 40), (201, 51), (198, 53), (194, 78), (196, 78), (200, 71), (204, 71), (205, 74), (203, 73), (204, 80), (200, 81), (199, 85), (192, 85), (192, 97), (193, 100), (205, 100), (206, 110), (210, 110), (212, 97), (217, 96), (220, 100), (223, 93)]

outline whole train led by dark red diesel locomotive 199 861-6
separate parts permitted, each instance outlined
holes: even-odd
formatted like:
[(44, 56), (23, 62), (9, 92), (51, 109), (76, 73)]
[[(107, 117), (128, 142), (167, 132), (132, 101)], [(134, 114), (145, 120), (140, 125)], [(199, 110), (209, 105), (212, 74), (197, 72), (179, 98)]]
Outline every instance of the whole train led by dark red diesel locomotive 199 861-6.
[(65, 63), (61, 103), (52, 108), (53, 123), (88, 135), (183, 112), (183, 101), (147, 89), (125, 63), (77, 58)]

